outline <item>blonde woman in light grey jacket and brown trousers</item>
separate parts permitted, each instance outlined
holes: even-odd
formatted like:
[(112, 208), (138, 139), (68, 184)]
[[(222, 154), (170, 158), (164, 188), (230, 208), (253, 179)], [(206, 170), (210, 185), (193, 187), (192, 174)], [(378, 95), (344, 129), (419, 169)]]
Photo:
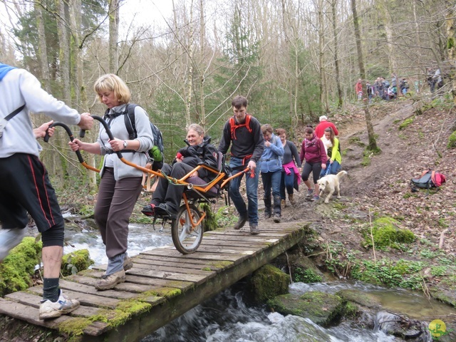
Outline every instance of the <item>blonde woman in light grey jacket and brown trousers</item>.
[(128, 222), (142, 190), (142, 171), (123, 163), (115, 152), (122, 152), (126, 160), (144, 167), (148, 160), (147, 150), (152, 148), (154, 140), (149, 117), (139, 105), (135, 106), (138, 136), (130, 139), (124, 115), (128, 113), (131, 93), (122, 79), (110, 73), (98, 78), (93, 88), (100, 102), (108, 107), (105, 120), (115, 138), (110, 140), (105, 128), (100, 125), (96, 142), (75, 139), (69, 145), (73, 151), (85, 150), (104, 156), (95, 204), (95, 222), (106, 247), (108, 268), (95, 283), (95, 288), (108, 290), (123, 283), (125, 271), (133, 266), (133, 261), (127, 255)]

